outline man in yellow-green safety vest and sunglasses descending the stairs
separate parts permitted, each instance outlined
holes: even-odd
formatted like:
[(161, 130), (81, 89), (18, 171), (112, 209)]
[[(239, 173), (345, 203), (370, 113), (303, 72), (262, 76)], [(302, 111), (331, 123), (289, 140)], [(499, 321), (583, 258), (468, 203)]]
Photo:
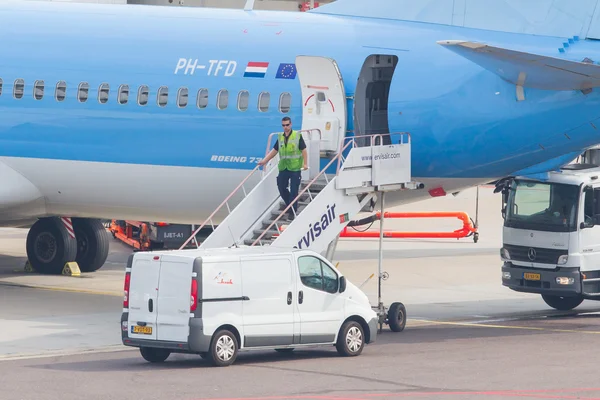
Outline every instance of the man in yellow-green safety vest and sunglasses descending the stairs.
[[(306, 143), (301, 133), (292, 129), (290, 117), (281, 120), (283, 132), (279, 133), (278, 139), (269, 154), (263, 158), (258, 165), (266, 165), (277, 153), (279, 153), (279, 175), (277, 175), (277, 188), (286, 207), (298, 196), (300, 189), (301, 171), (308, 169)], [(288, 184), (290, 190), (288, 191)], [(288, 219), (294, 219), (294, 212), (298, 211), (298, 204), (294, 203), (288, 210)]]

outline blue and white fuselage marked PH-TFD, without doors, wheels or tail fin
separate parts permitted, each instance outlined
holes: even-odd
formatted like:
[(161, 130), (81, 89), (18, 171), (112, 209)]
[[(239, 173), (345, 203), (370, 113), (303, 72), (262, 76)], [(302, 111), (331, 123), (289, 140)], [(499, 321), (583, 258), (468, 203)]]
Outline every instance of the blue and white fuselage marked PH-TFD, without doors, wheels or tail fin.
[[(387, 128), (411, 133), (412, 175), (426, 190), (390, 194), (390, 206), (560, 165), (600, 142), (597, 91), (525, 83), (519, 98), (502, 71), (438, 43), (581, 63), (600, 60), (596, 41), (560, 52), (568, 38), (317, 13), (2, 2), (0, 15), (4, 225), (51, 215), (203, 222), (283, 116), (302, 127), (299, 80), (285, 65), (297, 55), (337, 62), (348, 103), (332, 107), (347, 107), (352, 134), (363, 132), (353, 110), (365, 60), (397, 57)], [(557, 79), (546, 72), (542, 81)]]

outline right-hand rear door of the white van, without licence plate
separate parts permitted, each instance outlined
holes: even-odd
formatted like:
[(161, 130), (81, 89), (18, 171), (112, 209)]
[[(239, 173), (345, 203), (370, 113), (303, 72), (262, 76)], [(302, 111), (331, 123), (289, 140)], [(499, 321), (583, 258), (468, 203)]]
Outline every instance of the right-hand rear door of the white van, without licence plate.
[(194, 259), (161, 255), (158, 281), (158, 340), (187, 342)]

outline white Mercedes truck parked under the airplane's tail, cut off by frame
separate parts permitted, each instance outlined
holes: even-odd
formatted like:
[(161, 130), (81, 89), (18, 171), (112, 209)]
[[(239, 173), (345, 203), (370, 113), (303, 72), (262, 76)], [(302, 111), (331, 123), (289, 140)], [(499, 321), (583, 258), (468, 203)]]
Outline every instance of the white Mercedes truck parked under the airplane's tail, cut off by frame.
[(557, 310), (600, 300), (600, 168), (569, 164), (500, 188), (502, 284)]

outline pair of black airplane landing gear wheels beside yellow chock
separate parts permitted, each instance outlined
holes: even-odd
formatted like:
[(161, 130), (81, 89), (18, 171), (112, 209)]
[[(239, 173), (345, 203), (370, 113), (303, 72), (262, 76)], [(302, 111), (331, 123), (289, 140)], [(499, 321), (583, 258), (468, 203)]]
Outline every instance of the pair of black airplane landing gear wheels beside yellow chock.
[(96, 219), (59, 217), (39, 219), (27, 235), (27, 258), (42, 274), (61, 274), (66, 263), (77, 261), (82, 272), (98, 270), (108, 257), (108, 232)]

